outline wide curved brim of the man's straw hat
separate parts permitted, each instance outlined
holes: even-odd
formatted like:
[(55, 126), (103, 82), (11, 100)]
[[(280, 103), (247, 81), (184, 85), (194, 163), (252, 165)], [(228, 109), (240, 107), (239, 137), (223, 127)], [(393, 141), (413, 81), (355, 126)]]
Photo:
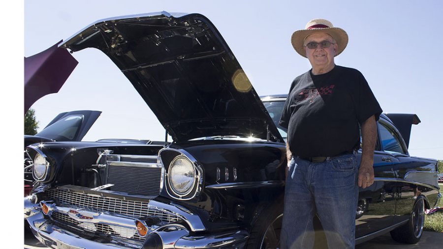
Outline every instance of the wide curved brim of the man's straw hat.
[(299, 55), (307, 58), (305, 48), (303, 47), (303, 42), (305, 41), (306, 37), (314, 33), (327, 33), (334, 38), (338, 45), (335, 56), (340, 55), (345, 50), (346, 46), (348, 46), (348, 34), (342, 28), (301, 29), (292, 33), (291, 36), (292, 47), (294, 47), (295, 51)]

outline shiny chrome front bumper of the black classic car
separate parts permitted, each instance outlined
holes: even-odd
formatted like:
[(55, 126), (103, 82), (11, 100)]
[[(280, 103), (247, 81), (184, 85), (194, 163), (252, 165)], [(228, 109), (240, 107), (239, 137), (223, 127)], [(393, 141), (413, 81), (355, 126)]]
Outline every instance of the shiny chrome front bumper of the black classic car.
[[(87, 235), (80, 229), (69, 229), (57, 225), (43, 215), (41, 206), (35, 202), (34, 196), (25, 197), (25, 219), (31, 226), (32, 233), (47, 247), (63, 249), (122, 249), (122, 248), (153, 248), (153, 249), (216, 249), (243, 248), (249, 233), (245, 230), (230, 231), (219, 234), (203, 234), (191, 236), (190, 229), (181, 224), (167, 224), (151, 231), (141, 244), (127, 244), (108, 236)], [(57, 207), (54, 207), (57, 208)], [(104, 221), (106, 222), (106, 221)], [(75, 231), (75, 232), (74, 232)]]

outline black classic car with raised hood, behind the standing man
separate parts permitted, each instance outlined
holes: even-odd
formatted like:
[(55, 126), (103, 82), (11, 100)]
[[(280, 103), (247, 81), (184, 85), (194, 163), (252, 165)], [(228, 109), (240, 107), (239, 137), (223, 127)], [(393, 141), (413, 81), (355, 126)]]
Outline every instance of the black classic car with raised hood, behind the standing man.
[[(101, 20), (60, 46), (108, 55), (173, 141), (28, 146), (38, 184), (25, 198), (25, 218), (41, 243), (279, 247), (287, 162), (285, 129), (276, 124), (285, 96), (260, 99), (206, 17), (161, 12)], [(424, 209), (440, 198), (437, 161), (410, 157), (388, 116), (378, 128), (376, 182), (360, 190), (357, 243), (387, 231), (415, 243)]]

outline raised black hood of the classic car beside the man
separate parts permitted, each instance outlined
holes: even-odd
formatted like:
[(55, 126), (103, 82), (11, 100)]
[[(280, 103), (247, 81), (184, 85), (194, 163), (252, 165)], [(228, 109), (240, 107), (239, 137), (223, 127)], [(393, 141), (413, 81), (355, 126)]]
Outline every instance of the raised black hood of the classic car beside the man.
[(200, 14), (100, 20), (60, 46), (109, 56), (174, 141), (241, 136), (283, 142), (221, 34)]

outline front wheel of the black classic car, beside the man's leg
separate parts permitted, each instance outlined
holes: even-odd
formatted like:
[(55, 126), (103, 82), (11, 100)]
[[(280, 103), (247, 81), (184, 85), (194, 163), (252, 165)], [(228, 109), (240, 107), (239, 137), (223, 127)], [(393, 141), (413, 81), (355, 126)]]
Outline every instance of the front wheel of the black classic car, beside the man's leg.
[(247, 249), (280, 248), (280, 232), (282, 231), (283, 202), (281, 207), (265, 209), (255, 221), (248, 240)]

